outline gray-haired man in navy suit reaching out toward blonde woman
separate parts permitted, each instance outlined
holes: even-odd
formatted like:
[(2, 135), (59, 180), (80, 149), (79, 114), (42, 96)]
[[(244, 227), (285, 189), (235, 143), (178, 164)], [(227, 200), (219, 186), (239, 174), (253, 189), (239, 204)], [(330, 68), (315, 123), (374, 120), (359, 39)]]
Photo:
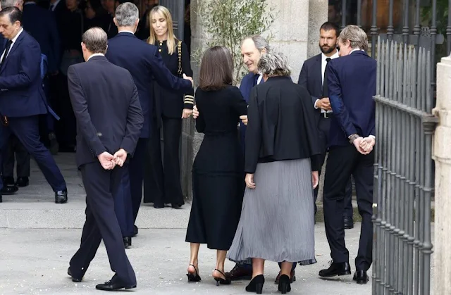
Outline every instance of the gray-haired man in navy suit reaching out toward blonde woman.
[[(130, 2), (121, 4), (116, 8), (114, 22), (118, 27), (116, 37), (109, 39), (106, 58), (111, 63), (119, 65), (130, 71), (140, 94), (140, 103), (144, 115), (140, 140), (137, 143), (135, 155), (130, 159), (129, 173), (123, 178), (123, 188), (118, 194), (123, 194), (123, 205), (116, 206), (116, 215), (120, 220), (121, 230), (125, 246), (131, 245), (131, 237), (137, 232), (133, 227), (142, 199), (142, 180), (144, 174), (144, 156), (147, 149), (147, 141), (153, 137), (159, 138), (159, 132), (154, 122), (154, 96), (153, 82), (158, 82), (167, 89), (187, 90), (192, 88), (191, 77), (180, 79), (171, 74), (164, 65), (156, 46), (147, 44), (135, 37), (139, 23), (139, 11), (135, 4)], [(181, 96), (180, 96), (181, 97)], [(181, 98), (180, 98), (181, 99)], [(130, 178), (130, 184), (128, 184)], [(130, 189), (128, 189), (130, 185)], [(129, 199), (131, 194), (131, 207)], [(130, 217), (132, 220), (130, 225)], [(122, 221), (121, 221), (122, 220)]]

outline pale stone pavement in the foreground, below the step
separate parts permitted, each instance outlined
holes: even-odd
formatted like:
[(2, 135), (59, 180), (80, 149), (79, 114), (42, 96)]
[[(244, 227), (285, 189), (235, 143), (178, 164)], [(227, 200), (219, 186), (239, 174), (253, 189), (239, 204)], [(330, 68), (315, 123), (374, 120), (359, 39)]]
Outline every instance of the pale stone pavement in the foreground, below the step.
[[(178, 212), (172, 208), (164, 210)], [(371, 282), (358, 285), (352, 282), (352, 276), (336, 280), (321, 280), (317, 276), (330, 260), (323, 227), (317, 224), (315, 230), (318, 263), (297, 267), (297, 281), (292, 284), (291, 294), (371, 294)], [(352, 263), (359, 230), (348, 230), (346, 234)], [(112, 275), (103, 244), (81, 283), (72, 282), (66, 275), (80, 236), (78, 229), (0, 229), (0, 294), (99, 294), (95, 285)], [(211, 278), (216, 251), (206, 246), (201, 246), (199, 254), (202, 281), (188, 283), (185, 273), (190, 246), (185, 243), (185, 230), (140, 230), (127, 253), (137, 275), (135, 294), (249, 294), (244, 289), (248, 281), (216, 287)], [(226, 270), (232, 267), (233, 263), (227, 261)], [(266, 263), (264, 294), (280, 294), (273, 284), (277, 273), (277, 263)]]

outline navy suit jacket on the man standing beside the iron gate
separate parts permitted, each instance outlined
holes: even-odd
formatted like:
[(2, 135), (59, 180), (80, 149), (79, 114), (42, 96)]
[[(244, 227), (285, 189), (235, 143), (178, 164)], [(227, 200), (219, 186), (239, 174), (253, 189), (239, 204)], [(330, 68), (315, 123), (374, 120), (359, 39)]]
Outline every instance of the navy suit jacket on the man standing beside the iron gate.
[(375, 135), (376, 61), (354, 51), (329, 61), (326, 68), (333, 117), (329, 146), (347, 146), (351, 134)]

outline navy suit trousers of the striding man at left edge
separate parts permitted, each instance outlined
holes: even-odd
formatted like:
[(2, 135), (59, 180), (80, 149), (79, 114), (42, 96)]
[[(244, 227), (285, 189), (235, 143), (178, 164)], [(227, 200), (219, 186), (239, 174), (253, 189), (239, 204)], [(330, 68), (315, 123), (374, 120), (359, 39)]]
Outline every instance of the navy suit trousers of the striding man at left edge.
[[(39, 119), (37, 115), (30, 117), (8, 118), (8, 126), (0, 127), (0, 167), (2, 165), (3, 151), (6, 149), (8, 139), (12, 134), (16, 135), (20, 143), (23, 144), (25, 150), (35, 158), (39, 169), (44, 174), (45, 179), (49, 182), (54, 192), (66, 189), (66, 182), (61, 174), (54, 158), (48, 149), (39, 141)], [(0, 189), (3, 182), (0, 177)]]

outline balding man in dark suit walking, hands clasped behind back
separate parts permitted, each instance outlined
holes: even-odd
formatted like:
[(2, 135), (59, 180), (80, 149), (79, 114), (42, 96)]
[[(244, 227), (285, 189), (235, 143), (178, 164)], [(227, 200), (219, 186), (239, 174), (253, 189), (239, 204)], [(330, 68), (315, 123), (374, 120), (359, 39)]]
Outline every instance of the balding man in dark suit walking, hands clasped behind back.
[(144, 119), (132, 76), (110, 63), (106, 32), (93, 27), (82, 36), (86, 63), (70, 65), (70, 101), (77, 119), (77, 165), (86, 190), (86, 222), (80, 249), (70, 260), (68, 275), (80, 282), (104, 240), (113, 278), (96, 289), (116, 291), (136, 287), (135, 272), (123, 246), (114, 213), (113, 194), (120, 185), (122, 168), (132, 156)]

